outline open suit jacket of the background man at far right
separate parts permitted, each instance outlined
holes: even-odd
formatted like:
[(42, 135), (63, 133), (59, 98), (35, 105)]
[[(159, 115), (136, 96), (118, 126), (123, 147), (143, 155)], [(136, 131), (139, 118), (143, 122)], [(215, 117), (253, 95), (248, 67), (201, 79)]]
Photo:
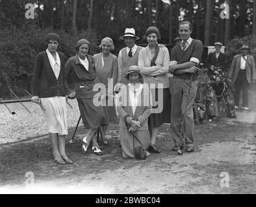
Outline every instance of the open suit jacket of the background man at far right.
[[(231, 69), (229, 71), (229, 78), (235, 82), (237, 80), (238, 73), (240, 71), (240, 64), (241, 64), (242, 55), (238, 54), (233, 58)], [(255, 64), (253, 56), (247, 55), (246, 60), (246, 79), (249, 83), (252, 80), (256, 80), (256, 73), (255, 73)]]

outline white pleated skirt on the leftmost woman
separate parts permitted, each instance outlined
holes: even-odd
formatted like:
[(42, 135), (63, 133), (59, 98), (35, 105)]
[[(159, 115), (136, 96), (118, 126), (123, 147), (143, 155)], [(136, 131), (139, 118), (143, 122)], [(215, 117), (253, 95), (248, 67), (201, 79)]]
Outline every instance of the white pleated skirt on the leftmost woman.
[(68, 135), (66, 97), (55, 96), (49, 98), (40, 98), (40, 105), (42, 105), (42, 107), (45, 109), (44, 114), (49, 133)]

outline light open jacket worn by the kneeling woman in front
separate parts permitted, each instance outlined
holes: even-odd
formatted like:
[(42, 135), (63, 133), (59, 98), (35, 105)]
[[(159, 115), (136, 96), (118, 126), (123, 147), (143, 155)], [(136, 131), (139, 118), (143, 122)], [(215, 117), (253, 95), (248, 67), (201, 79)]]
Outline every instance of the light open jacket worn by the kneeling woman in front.
[(133, 114), (133, 109), (129, 104), (129, 86), (125, 85), (121, 88), (118, 94), (118, 99), (120, 103), (117, 104), (117, 111), (120, 114), (120, 127), (127, 128), (125, 124), (125, 116), (127, 117), (127, 124), (130, 124), (131, 120), (138, 119), (140, 121), (140, 128), (138, 130), (148, 130), (147, 118), (151, 114), (151, 93), (147, 86), (147, 83), (143, 84), (143, 89), (138, 96), (138, 105), (136, 107), (135, 113)]

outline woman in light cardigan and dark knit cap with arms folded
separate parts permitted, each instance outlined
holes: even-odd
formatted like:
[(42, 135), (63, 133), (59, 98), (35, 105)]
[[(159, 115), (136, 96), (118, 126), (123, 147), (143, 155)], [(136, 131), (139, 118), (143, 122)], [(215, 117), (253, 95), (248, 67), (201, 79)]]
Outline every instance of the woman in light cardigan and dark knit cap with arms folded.
[(166, 47), (159, 46), (160, 39), (157, 27), (149, 27), (146, 30), (147, 47), (140, 50), (138, 67), (144, 76), (144, 83), (149, 84), (152, 94), (152, 114), (149, 116), (149, 132), (151, 141), (148, 151), (160, 153), (155, 146), (159, 127), (163, 123), (170, 123), (171, 96), (169, 91), (168, 68), (170, 56)]

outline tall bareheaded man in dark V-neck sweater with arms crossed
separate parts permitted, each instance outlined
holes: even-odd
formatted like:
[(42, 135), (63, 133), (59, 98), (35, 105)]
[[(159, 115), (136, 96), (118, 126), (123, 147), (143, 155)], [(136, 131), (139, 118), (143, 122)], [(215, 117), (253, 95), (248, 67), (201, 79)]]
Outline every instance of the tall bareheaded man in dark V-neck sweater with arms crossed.
[[(179, 35), (181, 36), (181, 45), (176, 45), (172, 49), (169, 71), (173, 74), (172, 94), (172, 113), (171, 129), (174, 141), (173, 151), (178, 147), (183, 149), (183, 142), (180, 142), (179, 136), (183, 124), (183, 115), (185, 114), (184, 133), (186, 151), (194, 151), (194, 114), (193, 101), (196, 98), (198, 90), (198, 67), (203, 53), (203, 43), (198, 39), (190, 38), (192, 25), (188, 21), (179, 23)], [(190, 85), (190, 80), (192, 82)], [(190, 88), (191, 87), (191, 88)], [(190, 94), (188, 94), (190, 88)], [(186, 107), (186, 109), (185, 109)]]

